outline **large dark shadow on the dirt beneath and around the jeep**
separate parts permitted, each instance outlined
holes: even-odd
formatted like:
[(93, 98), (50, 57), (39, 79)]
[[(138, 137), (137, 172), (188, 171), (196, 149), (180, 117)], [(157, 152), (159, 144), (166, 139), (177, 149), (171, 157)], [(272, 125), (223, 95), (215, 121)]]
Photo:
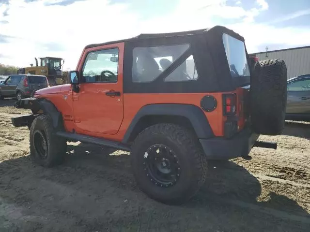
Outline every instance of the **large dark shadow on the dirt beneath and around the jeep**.
[(128, 154), (87, 144), (68, 145), (67, 151), (54, 168), (37, 166), (29, 156), (0, 163), (0, 231), (309, 229), (309, 215), (291, 199), (271, 193), (268, 202), (257, 202), (260, 182), (230, 161), (210, 162), (201, 191), (188, 203), (169, 206), (140, 192)]

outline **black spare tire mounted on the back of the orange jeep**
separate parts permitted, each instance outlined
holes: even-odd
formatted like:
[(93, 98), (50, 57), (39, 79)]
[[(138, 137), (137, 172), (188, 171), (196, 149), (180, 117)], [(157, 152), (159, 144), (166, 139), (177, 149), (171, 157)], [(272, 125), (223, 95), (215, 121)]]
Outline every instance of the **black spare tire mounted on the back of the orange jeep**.
[(279, 135), (284, 129), (287, 70), (283, 60), (256, 63), (250, 81), (250, 117), (255, 133)]

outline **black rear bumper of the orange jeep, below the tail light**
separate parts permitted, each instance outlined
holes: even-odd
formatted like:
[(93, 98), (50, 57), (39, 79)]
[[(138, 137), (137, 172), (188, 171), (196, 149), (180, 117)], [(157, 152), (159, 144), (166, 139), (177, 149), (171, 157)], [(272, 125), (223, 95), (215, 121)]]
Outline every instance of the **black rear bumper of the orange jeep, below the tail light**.
[(202, 149), (209, 160), (229, 160), (246, 157), (260, 135), (245, 129), (232, 138), (200, 139)]

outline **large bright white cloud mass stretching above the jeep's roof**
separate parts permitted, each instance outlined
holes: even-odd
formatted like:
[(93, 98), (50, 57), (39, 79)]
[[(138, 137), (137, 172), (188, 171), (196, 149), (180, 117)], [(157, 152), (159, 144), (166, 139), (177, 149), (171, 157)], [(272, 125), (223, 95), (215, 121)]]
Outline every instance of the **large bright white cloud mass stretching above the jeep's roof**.
[(0, 22), (9, 22), (0, 23), (0, 34), (14, 37), (6, 39), (10, 43), (0, 43), (0, 63), (26, 66), (34, 62), (34, 57), (55, 56), (65, 59), (65, 68), (75, 69), (82, 49), (89, 43), (140, 33), (209, 28), (221, 24), (221, 20), (240, 22), (223, 26), (244, 36), (250, 52), (256, 52), (260, 44), (304, 44), (310, 38), (309, 29), (256, 24), (255, 16), (268, 9), (265, 0), (256, 0), (257, 8), (250, 10), (241, 4), (229, 6), (226, 0), (179, 0), (169, 14), (147, 20), (130, 11), (130, 3), (86, 0), (69, 6), (46, 6), (56, 1), (60, 0), (10, 0), (6, 17), (2, 15), (7, 6), (0, 5)]

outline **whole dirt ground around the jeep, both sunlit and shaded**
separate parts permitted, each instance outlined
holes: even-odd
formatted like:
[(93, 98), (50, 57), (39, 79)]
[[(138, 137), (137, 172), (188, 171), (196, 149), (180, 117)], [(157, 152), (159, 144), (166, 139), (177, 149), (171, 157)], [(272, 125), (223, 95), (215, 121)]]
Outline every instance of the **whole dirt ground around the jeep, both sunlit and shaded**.
[(253, 148), (250, 161), (209, 162), (201, 191), (168, 206), (137, 188), (123, 151), (68, 143), (64, 164), (34, 164), (28, 128), (10, 119), (27, 111), (13, 104), (0, 101), (0, 232), (310, 231), (309, 123), (261, 136), (278, 149)]

